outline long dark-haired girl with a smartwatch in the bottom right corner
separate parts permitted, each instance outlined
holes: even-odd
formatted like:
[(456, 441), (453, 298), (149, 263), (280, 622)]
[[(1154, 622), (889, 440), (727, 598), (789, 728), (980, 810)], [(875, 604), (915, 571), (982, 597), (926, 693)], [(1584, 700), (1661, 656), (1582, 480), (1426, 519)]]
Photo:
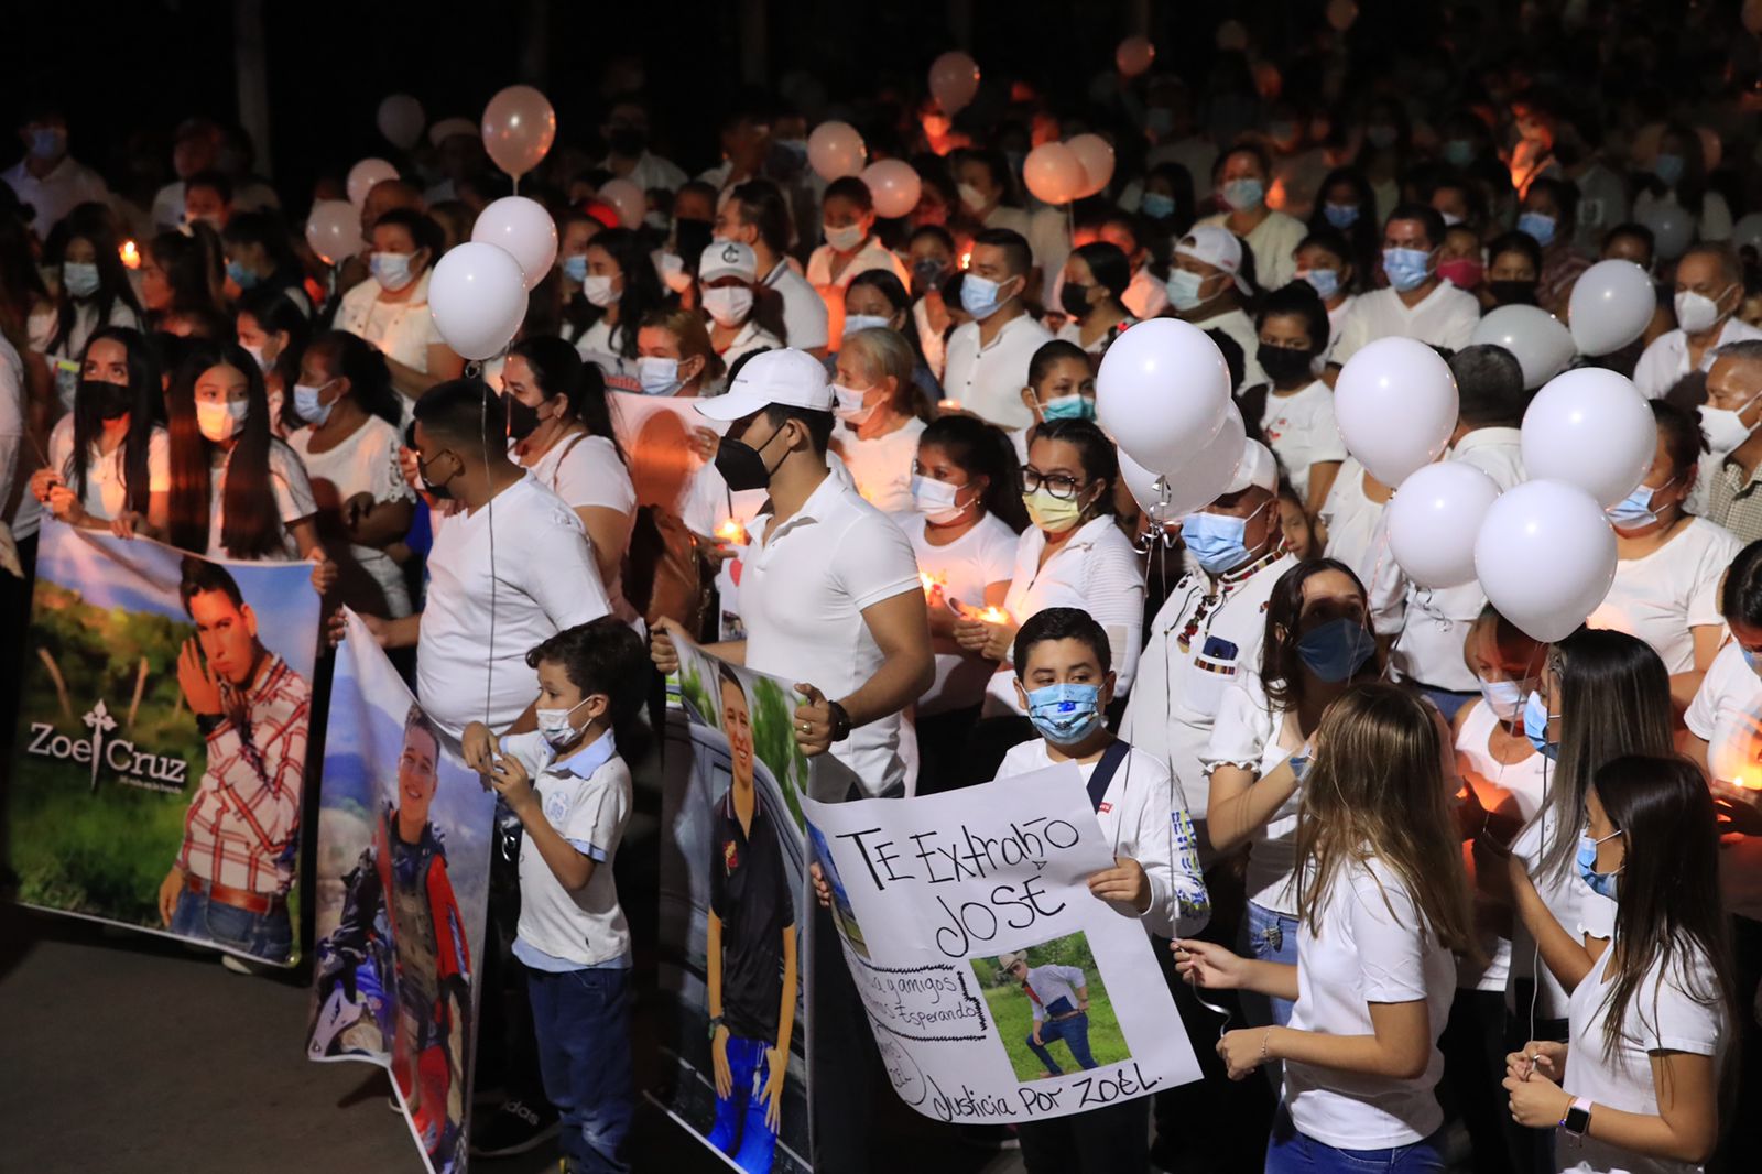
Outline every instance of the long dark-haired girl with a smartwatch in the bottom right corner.
[(1614, 943), (1593, 957), (1549, 929), (1542, 952), (1572, 987), (1572, 1044), (1529, 1040), (1507, 1056), (1510, 1112), (1558, 1126), (1559, 1170), (1700, 1170), (1739, 1022), (1713, 799), (1690, 762), (1626, 756), (1596, 772), (1584, 807), (1573, 871), (1614, 899)]

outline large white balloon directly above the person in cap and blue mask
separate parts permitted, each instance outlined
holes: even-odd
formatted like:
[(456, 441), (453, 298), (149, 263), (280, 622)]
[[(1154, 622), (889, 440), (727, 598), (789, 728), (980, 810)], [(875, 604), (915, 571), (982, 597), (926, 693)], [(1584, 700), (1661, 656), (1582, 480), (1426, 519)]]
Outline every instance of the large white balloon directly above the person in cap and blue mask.
[(1154, 317), (1121, 333), (1096, 374), (1096, 420), (1147, 469), (1179, 469), (1223, 428), (1230, 368), (1205, 331)]

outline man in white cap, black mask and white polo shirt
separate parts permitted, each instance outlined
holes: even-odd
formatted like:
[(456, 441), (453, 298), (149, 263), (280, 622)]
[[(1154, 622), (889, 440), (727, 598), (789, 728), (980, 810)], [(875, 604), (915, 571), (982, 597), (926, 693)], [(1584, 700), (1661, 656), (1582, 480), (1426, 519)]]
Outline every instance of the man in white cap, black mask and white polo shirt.
[[(752, 536), (740, 578), (747, 638), (710, 645), (715, 656), (796, 682), (795, 739), (807, 754), (830, 753), (856, 772), (849, 795), (906, 795), (916, 765), (902, 710), (936, 679), (918, 561), (893, 522), (826, 467), (832, 388), (803, 351), (765, 351), (740, 368), (728, 393), (698, 411), (731, 421), (715, 467), (733, 490), (765, 488), (770, 509)], [(655, 666), (678, 670), (675, 635), (663, 620)], [(814, 1093), (814, 1169), (869, 1169), (869, 1077), (879, 1065), (862, 1003), (825, 910), (809, 964), (816, 978), (814, 1065), (839, 1079)], [(869, 1059), (851, 1063), (851, 1047)]]

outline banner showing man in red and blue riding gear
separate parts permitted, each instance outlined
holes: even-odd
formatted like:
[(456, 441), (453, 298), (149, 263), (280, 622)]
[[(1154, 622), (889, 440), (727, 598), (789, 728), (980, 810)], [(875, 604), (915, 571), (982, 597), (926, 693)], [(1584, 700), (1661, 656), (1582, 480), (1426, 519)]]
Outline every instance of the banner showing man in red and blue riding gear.
[(324, 740), (307, 1054), (389, 1070), (428, 1170), (463, 1174), (495, 795), (361, 619), (345, 615)]

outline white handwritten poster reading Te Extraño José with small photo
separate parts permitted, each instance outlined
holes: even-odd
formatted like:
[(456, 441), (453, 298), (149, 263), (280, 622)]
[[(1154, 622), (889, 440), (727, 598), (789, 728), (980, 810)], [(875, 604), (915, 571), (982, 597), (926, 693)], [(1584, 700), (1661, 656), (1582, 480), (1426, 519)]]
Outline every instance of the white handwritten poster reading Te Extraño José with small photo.
[(1200, 1079), (1073, 765), (909, 800), (803, 804), (893, 1089), (939, 1121), (1008, 1125)]

